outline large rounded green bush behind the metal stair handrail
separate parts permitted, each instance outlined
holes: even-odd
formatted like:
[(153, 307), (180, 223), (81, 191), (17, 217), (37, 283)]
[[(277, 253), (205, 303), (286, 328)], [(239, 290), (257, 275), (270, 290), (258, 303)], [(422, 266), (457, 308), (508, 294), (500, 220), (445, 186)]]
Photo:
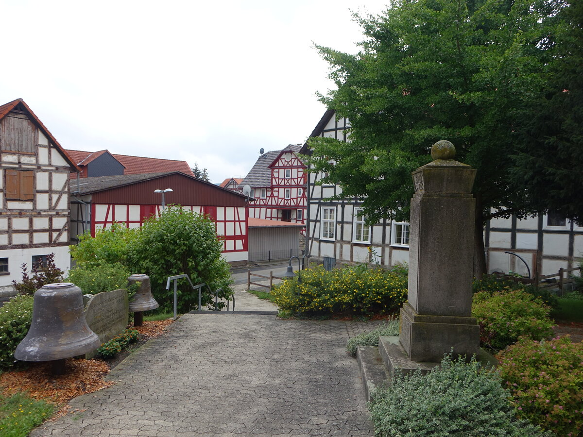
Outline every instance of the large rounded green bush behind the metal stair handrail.
[[(159, 217), (147, 220), (130, 245), (129, 266), (150, 277), (152, 294), (159, 312), (173, 310), (173, 290), (166, 290), (166, 278), (186, 273), (193, 284), (206, 283), (231, 297), (229, 263), (222, 256), (223, 241), (216, 235), (215, 223), (208, 217), (170, 206)], [(198, 305), (198, 292), (186, 280), (178, 282), (177, 311), (185, 313)], [(215, 306), (214, 295), (202, 290), (202, 305)], [(219, 308), (222, 308), (219, 302)]]

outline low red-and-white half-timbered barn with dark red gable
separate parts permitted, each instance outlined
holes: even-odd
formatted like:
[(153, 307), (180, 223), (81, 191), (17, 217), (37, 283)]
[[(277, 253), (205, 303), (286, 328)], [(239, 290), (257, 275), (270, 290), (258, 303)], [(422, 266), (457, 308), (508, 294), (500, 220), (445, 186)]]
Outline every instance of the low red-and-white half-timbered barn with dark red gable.
[[(176, 204), (216, 221), (224, 238), (223, 255), (231, 263), (246, 262), (248, 255), (247, 197), (178, 171), (82, 178), (71, 182), (71, 235), (92, 235), (114, 221), (128, 228), (140, 227), (159, 214), (161, 195), (171, 188), (166, 205)], [(72, 239), (76, 242), (78, 239)]]

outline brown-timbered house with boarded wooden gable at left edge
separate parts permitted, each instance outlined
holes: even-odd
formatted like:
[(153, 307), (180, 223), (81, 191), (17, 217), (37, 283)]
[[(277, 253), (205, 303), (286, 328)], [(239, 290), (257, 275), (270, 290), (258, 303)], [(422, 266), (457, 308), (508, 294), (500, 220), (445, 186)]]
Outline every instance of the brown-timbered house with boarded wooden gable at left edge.
[(69, 173), (79, 168), (22, 99), (0, 106), (0, 289), (20, 266), (42, 268), (69, 257)]

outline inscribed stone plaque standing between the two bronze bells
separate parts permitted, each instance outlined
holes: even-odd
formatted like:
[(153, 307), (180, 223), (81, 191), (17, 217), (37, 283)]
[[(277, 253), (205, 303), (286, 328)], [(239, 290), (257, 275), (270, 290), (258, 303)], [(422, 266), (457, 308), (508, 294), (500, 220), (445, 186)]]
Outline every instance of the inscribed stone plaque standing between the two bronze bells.
[[(128, 326), (128, 292), (114, 290), (92, 296), (85, 305), (85, 320), (101, 344), (118, 336)], [(89, 360), (96, 353), (90, 352), (85, 358)]]

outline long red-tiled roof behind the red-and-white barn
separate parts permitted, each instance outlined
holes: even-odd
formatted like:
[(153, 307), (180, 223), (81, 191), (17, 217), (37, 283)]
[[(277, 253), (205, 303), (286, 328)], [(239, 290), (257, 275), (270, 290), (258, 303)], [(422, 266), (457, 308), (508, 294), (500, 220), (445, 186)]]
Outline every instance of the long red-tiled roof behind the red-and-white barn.
[(187, 161), (178, 161), (173, 159), (161, 158), (146, 158), (142, 156), (118, 155), (111, 153), (108, 150), (100, 150), (96, 152), (83, 150), (67, 150), (73, 159), (79, 165), (87, 165), (95, 158), (109, 153), (121, 165), (125, 167), (124, 174), (144, 174), (144, 173), (160, 173), (167, 171), (180, 171), (181, 173), (194, 176), (192, 169)]

